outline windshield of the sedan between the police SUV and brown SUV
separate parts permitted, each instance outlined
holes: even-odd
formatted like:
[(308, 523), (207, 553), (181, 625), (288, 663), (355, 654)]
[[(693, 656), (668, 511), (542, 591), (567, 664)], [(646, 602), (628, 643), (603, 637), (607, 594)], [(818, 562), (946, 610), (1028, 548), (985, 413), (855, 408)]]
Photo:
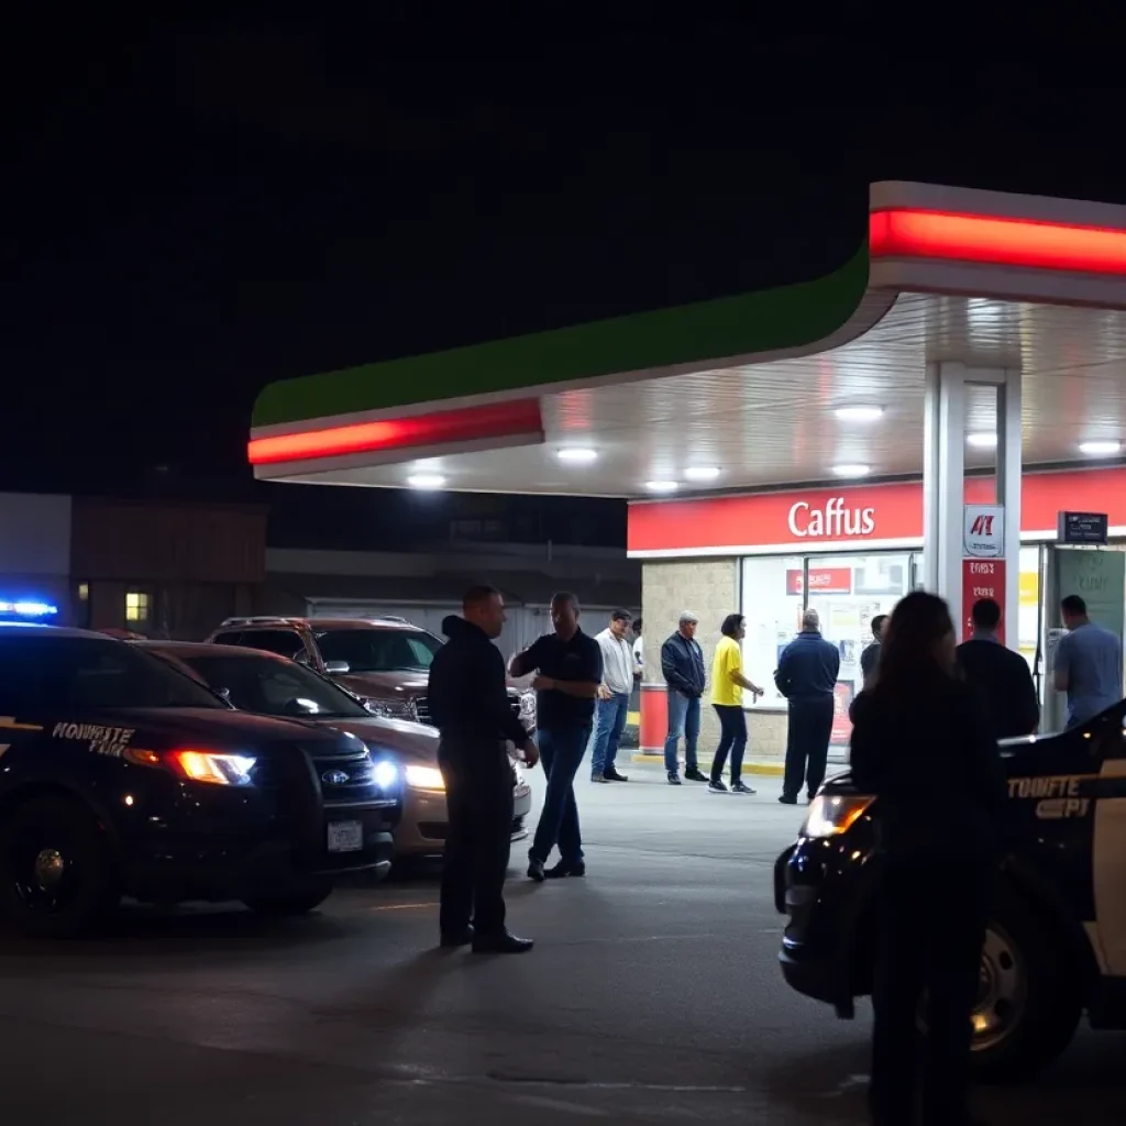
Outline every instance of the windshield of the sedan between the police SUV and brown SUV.
[(212, 688), (225, 688), (227, 699), (242, 712), (334, 720), (372, 717), (354, 697), (296, 661), (249, 653), (215, 656), (185, 650), (172, 655)]

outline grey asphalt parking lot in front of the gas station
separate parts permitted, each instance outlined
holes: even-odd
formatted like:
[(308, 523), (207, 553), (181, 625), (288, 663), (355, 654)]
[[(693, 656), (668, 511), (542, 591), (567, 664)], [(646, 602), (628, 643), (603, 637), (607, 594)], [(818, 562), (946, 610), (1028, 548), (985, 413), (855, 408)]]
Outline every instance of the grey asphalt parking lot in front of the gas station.
[[(0, 938), (0, 1120), (131, 1124), (865, 1121), (868, 1016), (839, 1022), (775, 965), (778, 851), (801, 810), (580, 784), (584, 881), (533, 885), (529, 955), (434, 948), (422, 875), (309, 919), (133, 909), (97, 941)], [(1126, 1120), (1126, 1037), (1083, 1031), (986, 1121)]]

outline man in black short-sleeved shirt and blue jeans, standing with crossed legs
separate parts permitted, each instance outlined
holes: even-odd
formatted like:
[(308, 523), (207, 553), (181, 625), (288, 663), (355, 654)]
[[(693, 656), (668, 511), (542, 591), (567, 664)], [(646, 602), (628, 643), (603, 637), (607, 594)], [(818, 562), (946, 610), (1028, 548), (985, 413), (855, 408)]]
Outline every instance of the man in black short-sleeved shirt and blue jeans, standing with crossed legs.
[[(579, 628), (574, 595), (552, 599), (552, 624), (555, 633), (544, 634), (509, 662), (513, 677), (537, 672), (531, 682), (536, 689), (536, 734), (547, 775), (544, 807), (528, 850), (528, 875), (537, 883), (587, 874), (574, 776), (587, 752), (595, 699), (602, 682), (602, 651)], [(545, 869), (556, 844), (560, 863)]]

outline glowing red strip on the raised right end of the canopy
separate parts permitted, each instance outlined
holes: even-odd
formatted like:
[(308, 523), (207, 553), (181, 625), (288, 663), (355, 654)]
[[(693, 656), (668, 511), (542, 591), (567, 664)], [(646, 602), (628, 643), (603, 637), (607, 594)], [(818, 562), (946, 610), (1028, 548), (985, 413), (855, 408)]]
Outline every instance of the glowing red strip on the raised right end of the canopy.
[(876, 258), (939, 258), (989, 266), (1126, 275), (1126, 231), (892, 208), (868, 218)]

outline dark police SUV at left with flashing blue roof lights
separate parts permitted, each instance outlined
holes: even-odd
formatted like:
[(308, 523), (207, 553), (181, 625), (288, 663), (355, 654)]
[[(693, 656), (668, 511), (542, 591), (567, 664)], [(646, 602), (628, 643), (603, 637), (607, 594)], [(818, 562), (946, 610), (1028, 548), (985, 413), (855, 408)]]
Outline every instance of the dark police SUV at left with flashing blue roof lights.
[(396, 768), (354, 735), (235, 712), (126, 642), (0, 623), (0, 914), (87, 930), (123, 896), (311, 911), (386, 873)]

